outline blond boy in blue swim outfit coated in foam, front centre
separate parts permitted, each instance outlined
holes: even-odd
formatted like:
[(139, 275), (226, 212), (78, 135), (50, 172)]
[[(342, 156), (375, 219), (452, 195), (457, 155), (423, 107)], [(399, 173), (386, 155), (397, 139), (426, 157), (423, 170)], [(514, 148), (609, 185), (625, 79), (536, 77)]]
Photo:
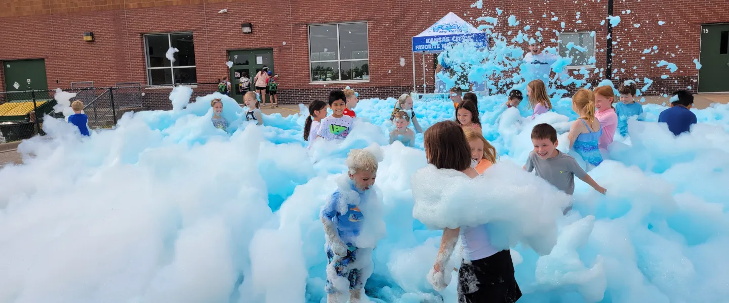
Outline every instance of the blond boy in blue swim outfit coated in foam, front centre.
[(349, 152), (349, 178), (338, 180), (338, 189), (321, 208), (327, 251), (327, 303), (344, 303), (347, 299), (360, 302), (364, 284), (373, 272), (373, 249), (384, 235), (381, 201), (373, 188), (382, 157), (379, 147), (373, 146)]

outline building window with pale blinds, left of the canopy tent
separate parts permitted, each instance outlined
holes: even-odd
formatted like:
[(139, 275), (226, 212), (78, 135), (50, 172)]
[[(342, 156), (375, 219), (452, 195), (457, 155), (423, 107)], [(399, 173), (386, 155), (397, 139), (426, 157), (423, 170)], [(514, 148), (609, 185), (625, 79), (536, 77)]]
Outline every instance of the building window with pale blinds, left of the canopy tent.
[(311, 81), (369, 81), (367, 23), (309, 26)]

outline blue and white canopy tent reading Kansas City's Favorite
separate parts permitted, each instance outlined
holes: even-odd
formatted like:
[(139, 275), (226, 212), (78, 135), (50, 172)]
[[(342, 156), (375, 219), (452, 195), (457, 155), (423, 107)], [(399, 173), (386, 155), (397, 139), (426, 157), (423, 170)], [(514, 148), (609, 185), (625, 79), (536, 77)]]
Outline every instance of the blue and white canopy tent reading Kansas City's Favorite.
[(423, 54), (423, 93), (426, 92), (425, 76), (425, 54), (437, 54), (443, 52), (448, 44), (458, 43), (464, 40), (472, 40), (476, 47), (486, 47), (486, 33), (478, 31), (473, 25), (467, 23), (453, 12), (431, 25), (418, 36), (413, 37), (413, 92), (416, 89), (415, 77), (415, 53)]

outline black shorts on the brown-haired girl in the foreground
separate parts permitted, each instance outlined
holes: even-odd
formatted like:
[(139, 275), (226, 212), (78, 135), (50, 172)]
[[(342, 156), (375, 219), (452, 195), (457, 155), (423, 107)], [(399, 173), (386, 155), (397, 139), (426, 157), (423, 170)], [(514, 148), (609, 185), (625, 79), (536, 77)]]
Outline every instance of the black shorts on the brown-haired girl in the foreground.
[(470, 264), (462, 262), (458, 276), (459, 303), (513, 303), (521, 298), (508, 249)]

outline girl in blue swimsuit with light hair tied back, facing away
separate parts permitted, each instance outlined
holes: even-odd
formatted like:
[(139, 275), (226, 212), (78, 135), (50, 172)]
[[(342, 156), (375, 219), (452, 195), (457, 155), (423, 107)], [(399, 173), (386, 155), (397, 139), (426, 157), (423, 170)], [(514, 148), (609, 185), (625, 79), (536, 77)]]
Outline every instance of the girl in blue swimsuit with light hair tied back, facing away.
[(569, 128), (569, 149), (577, 152), (590, 166), (602, 163), (599, 140), (602, 136), (600, 121), (595, 118), (595, 94), (580, 89), (572, 96), (572, 110), (580, 118)]

